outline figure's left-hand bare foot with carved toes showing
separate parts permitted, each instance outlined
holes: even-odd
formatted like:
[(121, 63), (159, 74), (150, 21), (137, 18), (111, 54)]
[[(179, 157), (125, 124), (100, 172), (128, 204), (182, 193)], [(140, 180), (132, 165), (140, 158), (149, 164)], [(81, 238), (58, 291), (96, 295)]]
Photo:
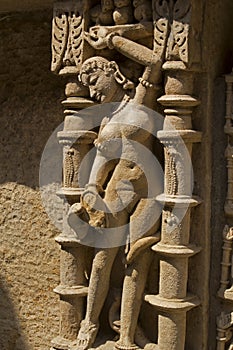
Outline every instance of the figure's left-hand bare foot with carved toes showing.
[(78, 333), (77, 342), (71, 350), (87, 350), (93, 345), (99, 329), (98, 324), (87, 321), (81, 322), (81, 328)]

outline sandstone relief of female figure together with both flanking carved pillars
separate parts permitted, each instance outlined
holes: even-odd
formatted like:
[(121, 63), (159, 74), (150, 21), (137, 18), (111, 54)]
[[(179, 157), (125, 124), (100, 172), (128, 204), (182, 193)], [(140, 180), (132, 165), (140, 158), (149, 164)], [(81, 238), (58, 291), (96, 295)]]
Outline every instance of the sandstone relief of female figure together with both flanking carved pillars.
[[(65, 209), (64, 230), (57, 237), (62, 280), (55, 289), (61, 298), (61, 327), (53, 349), (85, 350), (93, 345), (112, 265), (119, 246), (125, 245), (129, 250), (121, 296), (109, 311), (112, 328), (120, 334), (113, 346), (182, 350), (186, 312), (200, 303), (187, 294), (188, 258), (200, 251), (189, 243), (191, 208), (200, 203), (192, 197), (189, 161), (192, 144), (201, 139), (191, 123), (192, 109), (199, 104), (192, 97), (200, 52), (199, 11), (197, 16), (193, 4), (182, 0), (134, 1), (134, 9), (126, 1), (61, 4), (55, 4), (52, 69), (69, 81), (64, 130), (58, 135), (64, 146), (59, 195)], [(148, 109), (158, 108), (157, 99), (165, 107), (164, 125), (156, 135), (164, 147), (164, 190), (153, 168), (155, 185), (148, 196), (143, 169), (151, 167), (150, 157), (144, 153), (142, 159), (135, 144), (157, 152)], [(117, 105), (110, 112), (104, 109), (107, 115), (100, 113), (99, 129), (93, 109), (81, 111), (113, 102)], [(81, 177), (81, 163), (94, 145), (96, 156), (89, 158)], [(158, 208), (163, 212), (156, 243)], [(117, 232), (113, 246), (105, 229)], [(94, 241), (101, 237), (105, 244), (93, 252), (81, 245), (95, 246), (89, 236)], [(158, 294), (143, 295), (154, 252), (160, 264)], [(143, 300), (159, 314), (158, 341), (153, 344), (137, 324)]]

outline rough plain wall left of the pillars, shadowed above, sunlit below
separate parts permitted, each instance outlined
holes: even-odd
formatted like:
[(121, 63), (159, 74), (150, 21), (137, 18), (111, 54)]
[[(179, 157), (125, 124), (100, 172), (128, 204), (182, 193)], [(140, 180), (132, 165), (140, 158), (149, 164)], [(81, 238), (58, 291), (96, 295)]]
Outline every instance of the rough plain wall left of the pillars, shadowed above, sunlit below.
[(63, 120), (64, 85), (49, 67), (51, 18), (49, 9), (0, 20), (1, 350), (45, 350), (58, 333), (57, 230), (38, 190), (43, 148)]

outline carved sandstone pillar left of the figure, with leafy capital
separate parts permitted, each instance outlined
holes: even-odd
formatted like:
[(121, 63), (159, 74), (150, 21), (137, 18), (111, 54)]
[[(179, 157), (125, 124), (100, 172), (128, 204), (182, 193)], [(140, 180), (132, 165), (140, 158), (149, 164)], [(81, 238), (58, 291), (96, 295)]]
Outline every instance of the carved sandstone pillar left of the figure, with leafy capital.
[[(64, 199), (63, 231), (56, 237), (61, 246), (60, 285), (54, 291), (60, 296), (59, 336), (52, 340), (51, 349), (65, 350), (77, 337), (84, 313), (87, 295), (87, 277), (91, 251), (79, 243), (67, 223), (67, 213), (73, 203), (79, 202), (83, 187), (88, 180), (91, 160), (87, 160), (80, 179), (80, 164), (93, 147), (96, 133), (93, 120), (80, 112), (93, 102), (88, 91), (78, 83), (77, 74), (82, 62), (92, 50), (84, 41), (89, 1), (67, 1), (54, 4), (51, 70), (68, 80), (62, 102), (65, 110), (63, 131), (58, 133), (63, 147), (63, 185), (57, 193)], [(88, 167), (89, 165), (89, 167)], [(81, 183), (80, 183), (81, 181)], [(81, 228), (80, 228), (81, 229)]]

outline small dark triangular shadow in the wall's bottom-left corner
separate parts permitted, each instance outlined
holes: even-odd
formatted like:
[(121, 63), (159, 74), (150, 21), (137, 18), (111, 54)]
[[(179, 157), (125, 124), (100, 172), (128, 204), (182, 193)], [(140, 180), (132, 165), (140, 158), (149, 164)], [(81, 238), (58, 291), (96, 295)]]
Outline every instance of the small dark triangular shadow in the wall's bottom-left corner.
[(6, 282), (0, 276), (0, 349), (29, 350), (28, 344), (20, 334), (20, 325), (11, 301)]

